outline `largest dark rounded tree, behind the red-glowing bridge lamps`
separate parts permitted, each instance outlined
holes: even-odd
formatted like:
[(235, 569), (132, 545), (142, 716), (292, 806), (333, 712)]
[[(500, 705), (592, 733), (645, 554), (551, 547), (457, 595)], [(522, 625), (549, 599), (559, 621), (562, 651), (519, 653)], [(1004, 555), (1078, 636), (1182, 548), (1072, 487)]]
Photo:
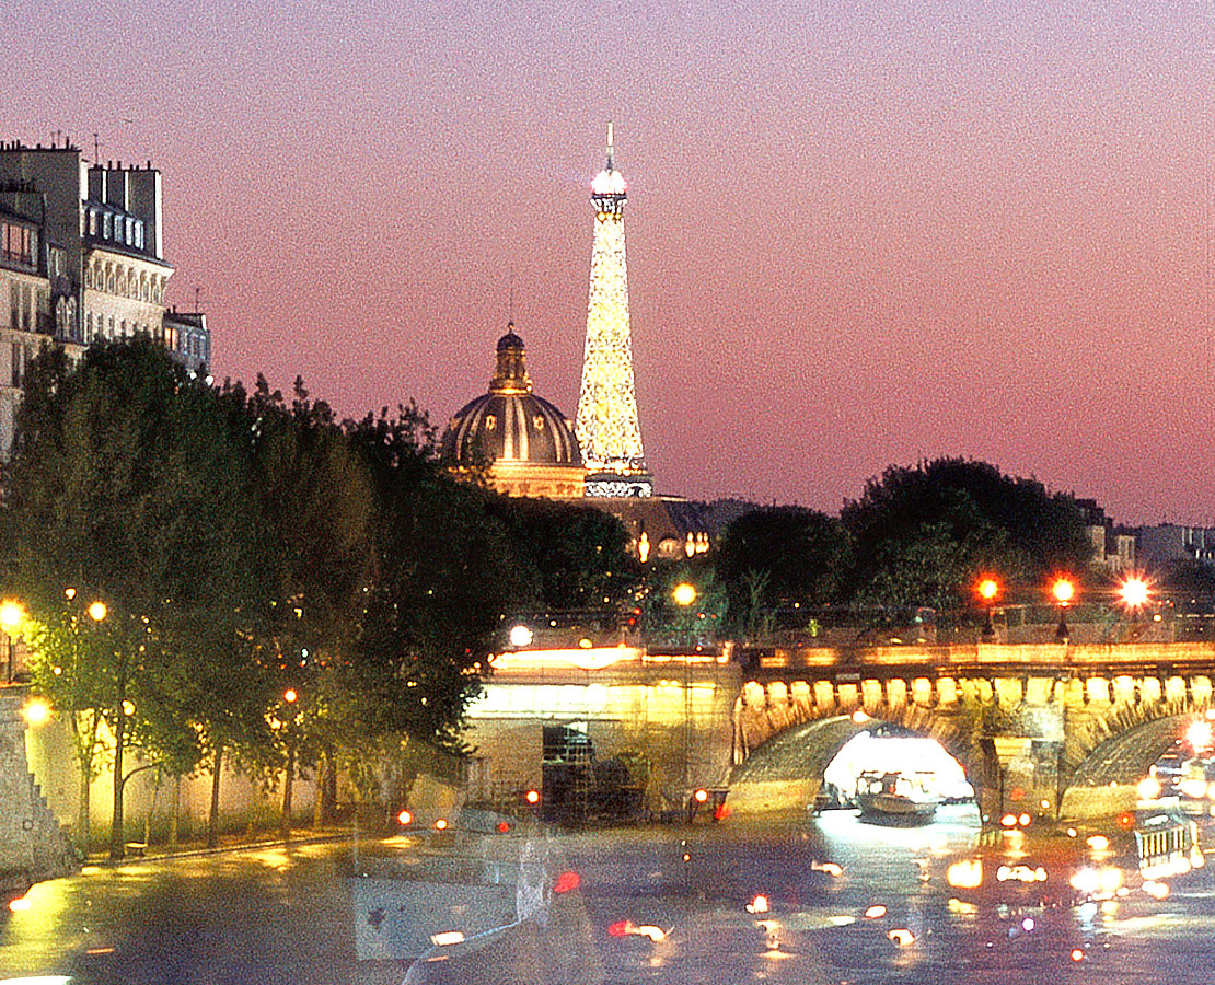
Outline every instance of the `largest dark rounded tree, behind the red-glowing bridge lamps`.
[(849, 589), (863, 606), (956, 610), (981, 570), (1036, 585), (1085, 567), (1092, 553), (1073, 497), (960, 458), (892, 465), (841, 520), (855, 551)]

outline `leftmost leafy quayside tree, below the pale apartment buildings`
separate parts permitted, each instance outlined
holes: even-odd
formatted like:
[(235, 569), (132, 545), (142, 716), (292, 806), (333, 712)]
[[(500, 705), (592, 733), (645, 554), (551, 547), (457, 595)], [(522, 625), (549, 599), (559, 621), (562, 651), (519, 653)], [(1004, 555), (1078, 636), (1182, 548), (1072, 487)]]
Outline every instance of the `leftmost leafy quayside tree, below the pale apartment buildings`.
[(197, 708), (183, 700), (185, 681), (210, 675), (250, 696), (237, 684), (245, 667), (233, 644), (259, 607), (248, 551), (256, 520), (248, 458), (232, 437), (216, 391), (142, 336), (95, 345), (74, 369), (50, 350), (27, 378), (5, 547), (35, 619), (62, 628), (66, 589), (107, 606), (92, 630), (89, 686), (69, 713), (91, 708), (112, 735), (114, 857), (124, 850), (126, 749), (173, 758), (190, 746)]

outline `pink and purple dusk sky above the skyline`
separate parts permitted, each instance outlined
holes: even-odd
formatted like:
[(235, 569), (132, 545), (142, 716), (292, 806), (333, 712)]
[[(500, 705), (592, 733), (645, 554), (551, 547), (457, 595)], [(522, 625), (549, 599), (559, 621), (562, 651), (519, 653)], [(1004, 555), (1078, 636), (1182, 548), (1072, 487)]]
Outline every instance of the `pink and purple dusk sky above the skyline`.
[[(1215, 526), (1215, 5), (9, 0), (6, 140), (164, 174), (220, 378), (577, 407), (615, 121), (660, 492), (990, 462)], [(13, 23), (15, 15), (15, 23)]]

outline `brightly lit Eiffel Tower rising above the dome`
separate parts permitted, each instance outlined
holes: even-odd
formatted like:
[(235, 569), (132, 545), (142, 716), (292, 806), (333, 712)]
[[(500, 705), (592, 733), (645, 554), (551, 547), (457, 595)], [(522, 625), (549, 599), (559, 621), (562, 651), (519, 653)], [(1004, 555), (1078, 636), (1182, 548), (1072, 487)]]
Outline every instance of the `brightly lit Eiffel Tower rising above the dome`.
[(608, 166), (590, 182), (595, 208), (587, 300), (587, 345), (573, 430), (587, 466), (587, 496), (651, 496), (633, 387), (633, 340), (628, 323), (625, 261), (625, 202), (628, 186), (616, 170), (608, 124)]

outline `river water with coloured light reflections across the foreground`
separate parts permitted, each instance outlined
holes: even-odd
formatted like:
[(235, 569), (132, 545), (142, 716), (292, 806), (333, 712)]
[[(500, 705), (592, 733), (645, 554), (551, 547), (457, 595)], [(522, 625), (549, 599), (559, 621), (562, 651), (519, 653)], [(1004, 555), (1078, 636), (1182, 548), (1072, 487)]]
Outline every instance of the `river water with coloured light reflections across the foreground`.
[[(349, 842), (149, 860), (35, 887), (28, 911), (0, 924), (0, 979), (1215, 981), (1215, 866), (1152, 887), (1162, 899), (1134, 873), (1083, 899), (1066, 871), (1080, 840), (981, 844), (973, 809), (953, 806), (914, 828), (832, 811), (395, 838), (362, 843), (357, 861)], [(959, 862), (972, 866), (963, 876), (983, 867), (979, 885)], [(514, 923), (516, 905), (526, 918)], [(463, 941), (416, 961), (454, 927)]]

